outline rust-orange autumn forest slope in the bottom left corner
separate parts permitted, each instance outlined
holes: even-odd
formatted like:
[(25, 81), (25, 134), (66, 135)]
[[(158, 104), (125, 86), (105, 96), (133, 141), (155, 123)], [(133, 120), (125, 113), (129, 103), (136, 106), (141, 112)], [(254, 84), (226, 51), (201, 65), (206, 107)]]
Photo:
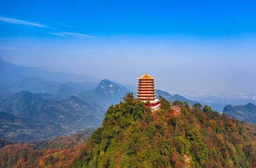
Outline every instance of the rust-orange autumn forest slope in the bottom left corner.
[(15, 144), (0, 139), (1, 145), (6, 145), (0, 148), (0, 167), (70, 168), (91, 133), (92, 129), (86, 129), (72, 136)]

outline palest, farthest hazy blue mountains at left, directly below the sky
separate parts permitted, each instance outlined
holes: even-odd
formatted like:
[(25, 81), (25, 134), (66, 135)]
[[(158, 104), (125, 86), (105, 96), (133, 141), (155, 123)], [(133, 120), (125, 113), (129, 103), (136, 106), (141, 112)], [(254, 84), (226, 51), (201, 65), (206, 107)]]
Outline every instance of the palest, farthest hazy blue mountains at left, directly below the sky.
[[(0, 91), (47, 92), (68, 98), (77, 89), (94, 89), (99, 78), (90, 75), (50, 72), (35, 67), (18, 66), (0, 58)], [(61, 92), (66, 87), (67, 93)]]

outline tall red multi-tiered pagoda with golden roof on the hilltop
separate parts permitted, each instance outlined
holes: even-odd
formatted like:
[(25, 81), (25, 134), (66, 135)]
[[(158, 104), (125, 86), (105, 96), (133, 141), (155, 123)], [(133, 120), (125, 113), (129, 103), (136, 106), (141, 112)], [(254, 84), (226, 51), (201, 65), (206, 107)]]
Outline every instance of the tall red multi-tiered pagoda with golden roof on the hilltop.
[(138, 78), (137, 99), (143, 101), (144, 106), (146, 106), (145, 103), (149, 99), (151, 110), (160, 108), (160, 101), (156, 99), (155, 78), (149, 76), (147, 72)]

